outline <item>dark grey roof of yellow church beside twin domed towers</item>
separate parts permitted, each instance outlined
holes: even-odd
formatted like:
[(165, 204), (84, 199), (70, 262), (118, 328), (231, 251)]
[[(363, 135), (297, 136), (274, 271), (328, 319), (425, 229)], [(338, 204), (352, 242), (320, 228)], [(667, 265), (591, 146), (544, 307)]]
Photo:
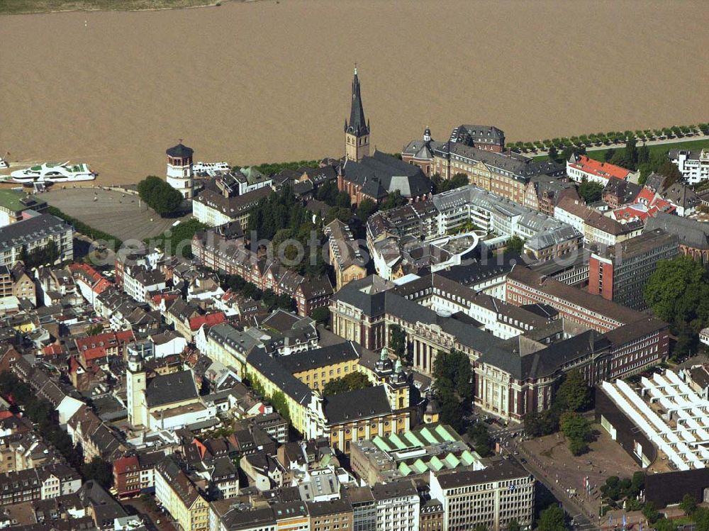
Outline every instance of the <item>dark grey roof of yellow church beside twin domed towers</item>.
[(323, 413), (328, 424), (341, 424), (386, 415), (391, 405), (384, 386), (365, 387), (325, 397)]

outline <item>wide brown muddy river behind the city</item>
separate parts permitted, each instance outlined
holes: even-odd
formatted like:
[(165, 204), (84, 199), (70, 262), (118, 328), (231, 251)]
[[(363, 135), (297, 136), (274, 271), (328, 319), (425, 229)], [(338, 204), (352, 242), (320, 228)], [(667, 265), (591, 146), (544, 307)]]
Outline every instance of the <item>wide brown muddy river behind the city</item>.
[(195, 160), (340, 156), (357, 62), (372, 145), (709, 121), (703, 1), (262, 0), (0, 16), (0, 155), (100, 184)]

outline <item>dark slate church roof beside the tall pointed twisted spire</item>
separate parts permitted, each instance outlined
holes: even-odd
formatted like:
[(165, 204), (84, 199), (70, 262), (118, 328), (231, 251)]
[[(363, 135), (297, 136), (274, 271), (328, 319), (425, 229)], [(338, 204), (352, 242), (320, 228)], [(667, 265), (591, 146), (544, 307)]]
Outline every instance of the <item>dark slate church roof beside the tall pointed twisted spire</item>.
[(430, 194), (432, 182), (414, 164), (406, 164), (396, 157), (374, 151), (372, 157), (361, 161), (345, 161), (342, 165), (345, 179), (362, 186), (362, 192), (374, 198), (400, 191), (404, 197)]

